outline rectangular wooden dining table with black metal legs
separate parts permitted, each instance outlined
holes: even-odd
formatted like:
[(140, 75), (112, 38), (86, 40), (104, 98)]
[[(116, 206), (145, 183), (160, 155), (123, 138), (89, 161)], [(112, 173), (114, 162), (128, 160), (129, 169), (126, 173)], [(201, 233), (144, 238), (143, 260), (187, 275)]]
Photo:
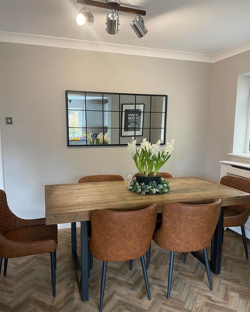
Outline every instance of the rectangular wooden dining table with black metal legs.
[[(88, 300), (88, 221), (94, 209), (143, 209), (156, 203), (158, 212), (167, 202), (208, 203), (222, 199), (212, 242), (210, 269), (220, 274), (224, 207), (250, 203), (250, 194), (199, 177), (169, 178), (172, 190), (142, 195), (128, 190), (124, 181), (45, 185), (46, 224), (71, 223), (71, 248), (82, 301)], [(80, 222), (81, 257), (77, 254), (76, 222)], [(199, 251), (192, 252), (203, 264)]]

